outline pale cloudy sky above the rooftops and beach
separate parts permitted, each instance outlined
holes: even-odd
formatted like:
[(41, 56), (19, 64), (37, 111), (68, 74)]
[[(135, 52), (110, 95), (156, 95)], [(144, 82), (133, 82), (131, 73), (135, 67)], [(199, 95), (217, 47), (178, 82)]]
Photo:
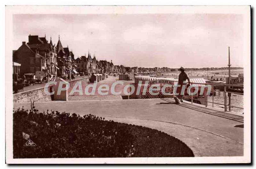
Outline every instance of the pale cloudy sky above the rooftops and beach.
[(13, 15), (13, 50), (39, 35), (99, 60), (138, 67), (243, 67), (239, 14), (19, 14)]

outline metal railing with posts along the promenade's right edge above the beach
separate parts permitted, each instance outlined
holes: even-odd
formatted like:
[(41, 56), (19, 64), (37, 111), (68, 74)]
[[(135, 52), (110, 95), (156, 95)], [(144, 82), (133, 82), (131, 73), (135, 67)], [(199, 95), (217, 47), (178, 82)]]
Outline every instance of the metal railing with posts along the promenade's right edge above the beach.
[[(207, 103), (212, 103), (212, 107), (214, 107), (214, 104), (219, 104), (219, 105), (224, 105), (224, 111), (227, 111), (227, 107), (229, 107), (229, 111), (231, 110), (231, 103), (230, 103), (230, 99), (229, 99), (229, 103), (227, 104), (227, 93), (233, 93), (233, 94), (239, 94), (239, 95), (244, 95), (243, 93), (238, 93), (238, 92), (234, 92), (234, 91), (227, 91), (227, 87), (238, 87), (238, 88), (243, 88), (243, 85), (231, 85), (231, 84), (213, 84), (213, 83), (191, 83), (191, 84), (200, 84), (200, 85), (211, 85), (211, 86), (222, 86), (224, 87), (224, 90), (222, 91), (224, 93), (224, 104), (220, 104), (220, 103), (214, 103), (214, 92), (216, 92), (215, 89), (213, 89), (213, 93), (212, 93), (212, 102), (209, 102), (207, 100), (207, 95), (206, 93), (204, 94), (204, 102), (205, 102), (205, 107), (207, 107)], [(220, 89), (219, 89), (220, 90)], [(199, 99), (195, 99), (193, 98), (193, 95), (191, 95), (191, 97), (188, 96), (184, 96), (186, 98), (191, 99), (191, 104), (193, 104), (193, 100), (198, 100), (201, 101)], [(238, 109), (244, 109), (243, 107), (238, 107), (238, 106), (233, 106), (235, 108)]]

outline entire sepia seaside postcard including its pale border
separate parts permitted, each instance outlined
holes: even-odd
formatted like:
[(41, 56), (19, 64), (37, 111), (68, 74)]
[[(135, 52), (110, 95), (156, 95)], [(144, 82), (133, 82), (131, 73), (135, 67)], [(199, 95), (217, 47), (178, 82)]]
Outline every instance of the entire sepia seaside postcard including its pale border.
[(250, 32), (250, 6), (6, 6), (6, 163), (250, 163)]

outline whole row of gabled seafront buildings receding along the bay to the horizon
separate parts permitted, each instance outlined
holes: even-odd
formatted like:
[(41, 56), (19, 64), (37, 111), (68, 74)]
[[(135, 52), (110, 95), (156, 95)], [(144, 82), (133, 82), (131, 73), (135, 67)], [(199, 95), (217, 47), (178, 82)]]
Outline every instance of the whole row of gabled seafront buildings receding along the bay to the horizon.
[[(52, 38), (47, 41), (46, 36), (29, 35), (28, 43), (22, 42), (18, 50), (13, 50), (13, 74), (21, 77), (24, 73), (43, 71), (44, 75), (53, 74), (67, 78), (72, 73), (92, 75), (92, 73), (149, 73), (177, 71), (168, 67), (128, 67), (114, 65), (112, 60), (97, 60), (95, 54), (86, 54), (75, 59), (73, 51), (68, 46), (63, 47), (60, 36), (57, 45), (53, 45)], [(186, 70), (206, 70), (207, 68), (187, 68)], [(218, 68), (208, 68), (217, 70)]]

